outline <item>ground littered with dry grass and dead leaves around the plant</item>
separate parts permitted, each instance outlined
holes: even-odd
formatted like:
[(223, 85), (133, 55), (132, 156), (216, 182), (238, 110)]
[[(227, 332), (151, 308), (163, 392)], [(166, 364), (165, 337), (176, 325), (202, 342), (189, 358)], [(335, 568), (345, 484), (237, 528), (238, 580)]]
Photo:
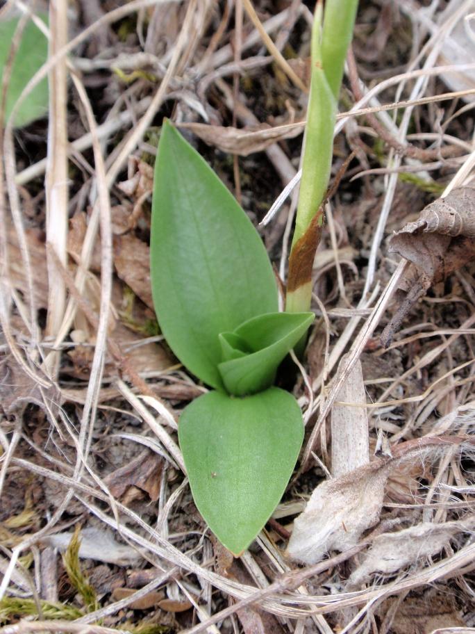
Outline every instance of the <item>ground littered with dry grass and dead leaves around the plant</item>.
[[(170, 117), (258, 226), (299, 170), (314, 6), (54, 4), (49, 122), (2, 135), (0, 631), (475, 631), (473, 191), (419, 220), (472, 178), (473, 1), (360, 3), (333, 174), (354, 156), (280, 377), (306, 440), (236, 560), (176, 444), (206, 389), (153, 312), (153, 161)], [(295, 203), (258, 227), (283, 284)]]

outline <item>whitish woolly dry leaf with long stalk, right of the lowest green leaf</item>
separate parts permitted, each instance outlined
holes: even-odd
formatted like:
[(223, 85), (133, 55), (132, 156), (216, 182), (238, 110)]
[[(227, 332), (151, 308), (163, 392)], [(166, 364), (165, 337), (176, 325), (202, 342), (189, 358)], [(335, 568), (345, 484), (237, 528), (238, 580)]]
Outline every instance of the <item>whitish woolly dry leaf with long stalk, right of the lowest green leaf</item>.
[(392, 448), (393, 457), (379, 458), (323, 482), (294, 521), (289, 557), (314, 564), (328, 551), (344, 551), (358, 544), (364, 531), (379, 520), (387, 478), (395, 469), (416, 458), (419, 462), (429, 460), (461, 442), (453, 436), (407, 441)]

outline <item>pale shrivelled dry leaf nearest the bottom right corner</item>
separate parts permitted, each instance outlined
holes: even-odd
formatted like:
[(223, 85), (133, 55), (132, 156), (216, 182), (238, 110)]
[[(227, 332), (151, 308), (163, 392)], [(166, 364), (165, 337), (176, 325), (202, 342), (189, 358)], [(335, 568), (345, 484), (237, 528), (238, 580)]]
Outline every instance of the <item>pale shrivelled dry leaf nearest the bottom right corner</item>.
[[(473, 521), (472, 521), (473, 525)], [(424, 522), (397, 533), (378, 535), (363, 555), (363, 562), (349, 578), (349, 587), (367, 583), (375, 573), (394, 574), (409, 565), (436, 555), (457, 533), (469, 530), (469, 523), (453, 521), (441, 524)]]

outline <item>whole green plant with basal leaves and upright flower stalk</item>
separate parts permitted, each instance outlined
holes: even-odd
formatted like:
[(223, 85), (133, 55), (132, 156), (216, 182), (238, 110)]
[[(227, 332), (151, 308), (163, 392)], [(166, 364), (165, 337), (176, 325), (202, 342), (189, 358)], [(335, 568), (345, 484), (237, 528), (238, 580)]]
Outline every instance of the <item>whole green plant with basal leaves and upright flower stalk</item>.
[[(306, 150), (285, 313), (262, 241), (203, 158), (165, 122), (153, 184), (151, 285), (178, 359), (214, 390), (178, 425), (194, 501), (235, 555), (274, 511), (303, 440), (294, 398), (273, 383), (313, 321), (311, 270), (330, 175), (336, 100), (355, 0), (317, 5)], [(320, 209), (320, 213), (317, 213)], [(299, 307), (303, 307), (299, 309)]]

